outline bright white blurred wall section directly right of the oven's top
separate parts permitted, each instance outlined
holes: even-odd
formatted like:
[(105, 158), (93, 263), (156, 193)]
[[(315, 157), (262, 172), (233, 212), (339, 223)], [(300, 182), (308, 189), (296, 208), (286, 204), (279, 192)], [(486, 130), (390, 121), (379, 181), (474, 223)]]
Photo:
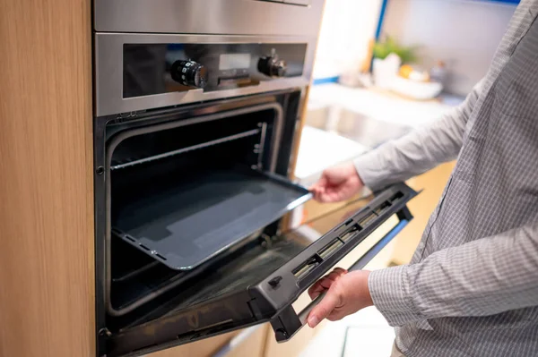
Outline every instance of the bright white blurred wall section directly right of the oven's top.
[(358, 68), (374, 38), (381, 0), (326, 0), (314, 78)]

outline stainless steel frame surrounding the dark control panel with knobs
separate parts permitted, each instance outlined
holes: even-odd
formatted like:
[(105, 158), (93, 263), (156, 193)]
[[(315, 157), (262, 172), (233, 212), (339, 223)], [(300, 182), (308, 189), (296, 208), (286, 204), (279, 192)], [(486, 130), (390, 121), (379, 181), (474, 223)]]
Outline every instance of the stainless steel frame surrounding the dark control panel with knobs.
[[(267, 37), (172, 34), (95, 34), (95, 116), (131, 113), (150, 108), (177, 106), (221, 98), (234, 98), (282, 89), (305, 88), (312, 74), (316, 37)], [(307, 43), (307, 55), (300, 77), (261, 81), (257, 86), (204, 92), (164, 93), (152, 96), (123, 98), (123, 45), (126, 43)]]

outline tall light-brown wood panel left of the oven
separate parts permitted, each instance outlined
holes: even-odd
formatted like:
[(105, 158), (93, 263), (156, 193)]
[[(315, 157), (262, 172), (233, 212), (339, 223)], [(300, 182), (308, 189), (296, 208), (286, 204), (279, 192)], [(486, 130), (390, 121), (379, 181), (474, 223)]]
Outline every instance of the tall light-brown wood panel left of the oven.
[(0, 1), (0, 356), (94, 356), (91, 3)]

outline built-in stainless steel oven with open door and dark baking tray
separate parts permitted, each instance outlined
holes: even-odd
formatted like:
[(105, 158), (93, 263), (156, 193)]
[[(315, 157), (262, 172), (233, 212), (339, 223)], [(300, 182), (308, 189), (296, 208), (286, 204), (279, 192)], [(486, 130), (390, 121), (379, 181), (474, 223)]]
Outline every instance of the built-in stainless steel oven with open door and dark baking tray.
[(93, 6), (98, 355), (267, 321), (289, 340), (317, 303), (299, 295), (389, 225), (363, 267), (416, 194), (376, 192), (315, 237), (286, 224), (310, 199), (291, 163), (323, 1)]

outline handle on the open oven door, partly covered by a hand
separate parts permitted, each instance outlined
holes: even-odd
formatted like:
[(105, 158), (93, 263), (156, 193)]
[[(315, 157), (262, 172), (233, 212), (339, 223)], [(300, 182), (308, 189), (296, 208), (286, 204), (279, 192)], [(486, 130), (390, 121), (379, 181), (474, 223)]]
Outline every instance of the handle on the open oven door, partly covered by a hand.
[[(407, 208), (404, 208), (407, 209)], [(373, 259), (379, 251), (385, 248), (386, 244), (391, 242), (397, 234), (399, 234), (404, 226), (409, 223), (408, 219), (402, 219), (400, 222), (395, 225), (395, 227), (387, 233), (383, 238), (381, 238), (373, 247), (369, 249), (364, 255), (360, 257), (348, 271), (360, 270)], [(326, 293), (326, 292), (325, 292)], [(307, 325), (308, 315), (314, 308), (323, 300), (325, 293), (321, 293), (316, 297), (312, 302), (308, 304), (306, 308), (301, 310), (298, 313), (295, 312), (293, 307), (289, 305), (282, 312), (271, 319), (271, 326), (274, 330), (274, 336), (278, 343), (283, 343), (289, 341), (291, 337), (295, 336), (299, 330)]]

